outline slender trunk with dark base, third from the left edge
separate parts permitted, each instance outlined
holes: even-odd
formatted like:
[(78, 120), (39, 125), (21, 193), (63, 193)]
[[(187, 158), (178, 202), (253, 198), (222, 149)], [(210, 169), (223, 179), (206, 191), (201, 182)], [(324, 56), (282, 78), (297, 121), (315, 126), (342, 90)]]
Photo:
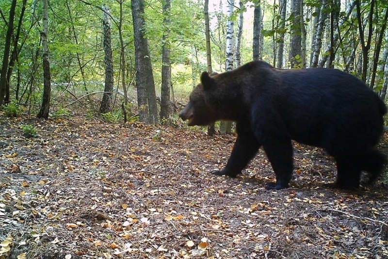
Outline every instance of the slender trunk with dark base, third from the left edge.
[(50, 94), (51, 94), (51, 74), (49, 62), (49, 0), (43, 0), (43, 100), (42, 107), (38, 113), (38, 118), (49, 118)]

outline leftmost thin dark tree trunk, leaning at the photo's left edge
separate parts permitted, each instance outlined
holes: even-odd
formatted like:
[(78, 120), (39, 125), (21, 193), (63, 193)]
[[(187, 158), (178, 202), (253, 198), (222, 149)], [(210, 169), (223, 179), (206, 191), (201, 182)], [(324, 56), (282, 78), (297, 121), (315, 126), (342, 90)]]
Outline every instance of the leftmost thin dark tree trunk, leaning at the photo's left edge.
[(16, 0), (12, 0), (11, 9), (9, 11), (7, 35), (5, 37), (5, 44), (4, 44), (3, 64), (1, 66), (0, 106), (5, 103), (5, 94), (7, 91), (9, 91), (7, 90), (7, 70), (8, 70), (9, 53), (11, 52), (11, 39), (12, 39), (12, 34), (14, 32), (15, 9), (16, 9)]

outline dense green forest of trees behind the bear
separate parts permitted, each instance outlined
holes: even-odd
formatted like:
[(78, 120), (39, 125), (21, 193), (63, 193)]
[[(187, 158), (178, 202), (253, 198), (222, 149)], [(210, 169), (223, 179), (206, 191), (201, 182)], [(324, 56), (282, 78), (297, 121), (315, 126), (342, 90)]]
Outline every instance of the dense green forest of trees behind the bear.
[(386, 100), (387, 18), (385, 0), (2, 0), (0, 105), (171, 121), (200, 72), (252, 60), (339, 68)]

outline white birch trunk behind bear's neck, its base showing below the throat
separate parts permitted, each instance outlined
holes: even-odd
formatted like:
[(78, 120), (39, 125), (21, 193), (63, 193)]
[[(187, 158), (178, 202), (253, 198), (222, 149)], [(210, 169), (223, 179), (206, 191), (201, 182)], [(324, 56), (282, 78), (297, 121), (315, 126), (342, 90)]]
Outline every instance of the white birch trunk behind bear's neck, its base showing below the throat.
[[(234, 57), (234, 22), (232, 20), (234, 12), (234, 0), (228, 0), (227, 11), (227, 27), (226, 27), (226, 71), (233, 70)], [(230, 134), (232, 130), (232, 123), (230, 121), (222, 121), (220, 124), (220, 131), (224, 134)]]

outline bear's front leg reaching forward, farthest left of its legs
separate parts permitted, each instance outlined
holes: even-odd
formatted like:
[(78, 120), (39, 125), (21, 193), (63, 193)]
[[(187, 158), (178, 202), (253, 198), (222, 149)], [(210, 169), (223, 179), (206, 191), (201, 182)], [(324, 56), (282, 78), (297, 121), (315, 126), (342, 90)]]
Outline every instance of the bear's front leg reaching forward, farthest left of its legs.
[(226, 163), (226, 167), (221, 171), (211, 171), (211, 174), (234, 178), (238, 174), (241, 174), (242, 169), (245, 168), (258, 152), (260, 144), (250, 131), (249, 126), (242, 128), (237, 124), (237, 133), (237, 139)]

